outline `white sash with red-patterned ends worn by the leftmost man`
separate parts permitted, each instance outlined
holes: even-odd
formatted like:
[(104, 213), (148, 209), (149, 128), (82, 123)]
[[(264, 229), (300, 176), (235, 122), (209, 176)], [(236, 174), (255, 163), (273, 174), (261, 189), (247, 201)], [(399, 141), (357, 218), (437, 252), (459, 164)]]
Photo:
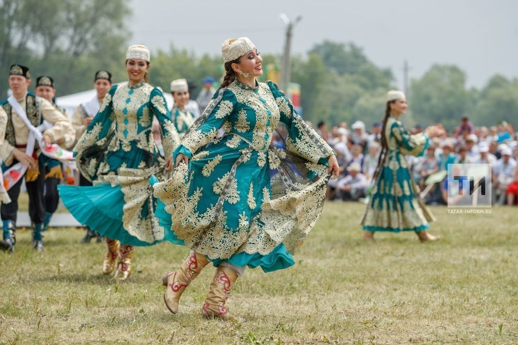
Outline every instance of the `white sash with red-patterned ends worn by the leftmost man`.
[[(25, 154), (27, 156), (32, 156), (34, 152), (34, 144), (36, 143), (36, 140), (38, 141), (39, 147), (41, 148), (41, 153), (44, 154), (47, 157), (57, 159), (64, 164), (75, 167), (75, 159), (74, 159), (74, 153), (68, 150), (65, 150), (61, 148), (57, 144), (52, 144), (50, 146), (46, 146), (45, 143), (42, 140), (41, 131), (45, 131), (48, 128), (51, 128), (52, 125), (48, 123), (47, 121), (44, 121), (43, 124), (39, 125), (38, 127), (34, 127), (31, 124), (31, 121), (27, 118), (27, 114), (23, 110), (22, 106), (20, 106), (20, 103), (16, 100), (16, 98), (11, 95), (9, 98), (7, 98), (7, 101), (11, 105), (12, 109), (16, 111), (18, 116), (22, 119), (23, 123), (27, 128), (29, 129), (29, 137), (27, 139), (27, 146), (25, 147)], [(20, 179), (25, 175), (25, 172), (27, 171), (27, 167), (25, 167), (21, 162), (16, 163), (11, 168), (9, 168), (5, 172), (4, 177), (4, 186), (7, 190), (14, 186)], [(1, 192), (1, 190), (0, 190)]]

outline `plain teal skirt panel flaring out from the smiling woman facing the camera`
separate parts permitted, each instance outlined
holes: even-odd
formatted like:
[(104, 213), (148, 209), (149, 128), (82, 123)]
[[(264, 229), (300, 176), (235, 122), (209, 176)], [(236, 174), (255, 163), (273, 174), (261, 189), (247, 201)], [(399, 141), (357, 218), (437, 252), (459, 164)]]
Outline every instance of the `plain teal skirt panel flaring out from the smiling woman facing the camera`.
[(77, 221), (100, 235), (118, 239), (124, 245), (151, 246), (161, 241), (140, 241), (124, 229), (124, 194), (121, 186), (57, 186), (61, 200)]

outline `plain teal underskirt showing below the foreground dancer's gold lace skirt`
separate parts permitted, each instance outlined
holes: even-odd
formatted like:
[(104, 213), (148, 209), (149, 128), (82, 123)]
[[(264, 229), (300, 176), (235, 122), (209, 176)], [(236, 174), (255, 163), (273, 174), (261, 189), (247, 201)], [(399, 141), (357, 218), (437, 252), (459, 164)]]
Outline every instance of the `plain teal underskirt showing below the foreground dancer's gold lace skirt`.
[[(151, 176), (149, 181), (151, 185), (159, 182), (155, 176)], [(184, 241), (178, 238), (175, 232), (171, 230), (171, 215), (165, 211), (164, 207), (164, 203), (160, 201), (160, 199), (157, 200), (155, 217), (159, 219), (160, 226), (164, 228), (164, 238), (171, 243), (184, 246)], [(238, 267), (248, 266), (255, 268), (260, 266), (264, 272), (277, 271), (278, 269), (288, 268), (295, 264), (292, 255), (286, 251), (286, 247), (282, 243), (265, 256), (259, 253), (248, 254), (246, 252), (240, 252), (224, 260), (208, 259), (212, 261), (215, 267), (219, 266), (222, 262), (228, 262)]]

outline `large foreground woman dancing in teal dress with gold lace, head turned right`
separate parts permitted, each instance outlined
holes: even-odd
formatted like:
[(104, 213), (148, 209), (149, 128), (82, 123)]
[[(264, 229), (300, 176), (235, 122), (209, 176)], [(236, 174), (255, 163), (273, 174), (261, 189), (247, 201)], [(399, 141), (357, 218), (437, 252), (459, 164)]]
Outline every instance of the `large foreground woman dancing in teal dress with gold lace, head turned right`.
[[(271, 272), (294, 264), (338, 164), (277, 86), (255, 80), (262, 59), (248, 38), (226, 40), (222, 52), (223, 84), (176, 148), (177, 168), (154, 185), (154, 196), (166, 238), (193, 250), (163, 279), (167, 308), (178, 311), (180, 295), (211, 261), (217, 269), (202, 311), (226, 319), (226, 299), (245, 266)], [(288, 133), (285, 150), (271, 145), (279, 123)], [(220, 128), (225, 134), (216, 138)]]

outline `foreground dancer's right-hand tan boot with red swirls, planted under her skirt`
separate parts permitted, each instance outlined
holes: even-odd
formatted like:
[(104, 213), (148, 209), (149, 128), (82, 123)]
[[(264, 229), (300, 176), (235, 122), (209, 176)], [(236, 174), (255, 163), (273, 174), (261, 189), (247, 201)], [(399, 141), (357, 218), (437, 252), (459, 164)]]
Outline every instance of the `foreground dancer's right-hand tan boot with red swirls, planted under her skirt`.
[(210, 291), (202, 307), (202, 313), (206, 318), (234, 319), (233, 315), (225, 308), (225, 302), (237, 277), (237, 273), (228, 267), (218, 266), (216, 268), (214, 279), (210, 284)]

